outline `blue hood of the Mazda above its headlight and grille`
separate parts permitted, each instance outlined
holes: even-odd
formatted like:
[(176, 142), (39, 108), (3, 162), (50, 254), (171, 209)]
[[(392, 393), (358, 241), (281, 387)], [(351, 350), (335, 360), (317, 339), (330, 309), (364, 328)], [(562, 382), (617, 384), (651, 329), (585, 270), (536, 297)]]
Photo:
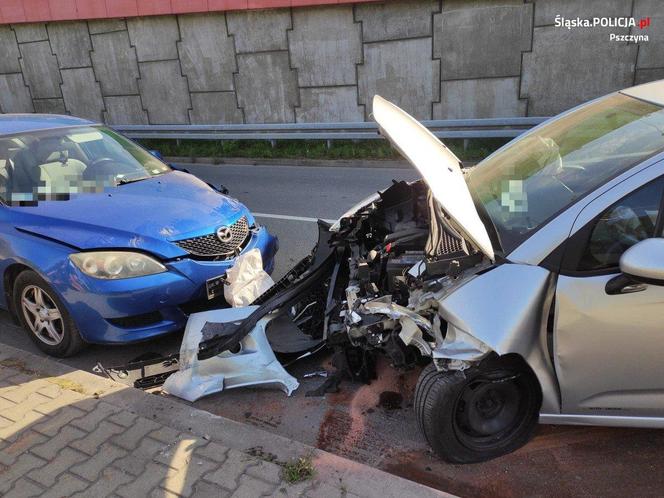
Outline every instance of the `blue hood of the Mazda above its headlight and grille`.
[(136, 248), (163, 258), (186, 254), (169, 241), (212, 233), (247, 215), (240, 202), (174, 171), (67, 201), (11, 207), (16, 228), (79, 249)]

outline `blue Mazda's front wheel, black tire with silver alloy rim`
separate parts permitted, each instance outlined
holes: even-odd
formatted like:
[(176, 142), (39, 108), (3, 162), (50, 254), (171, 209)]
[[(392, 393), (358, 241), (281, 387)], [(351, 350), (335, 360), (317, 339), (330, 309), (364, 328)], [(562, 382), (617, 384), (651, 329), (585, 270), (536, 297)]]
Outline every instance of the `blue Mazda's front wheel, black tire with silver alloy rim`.
[[(36, 298), (36, 293), (41, 296), (41, 299)], [(39, 309), (40, 312), (43, 311), (43, 316), (39, 315), (39, 312), (28, 311), (28, 307), (31, 305), (25, 304), (24, 298), (33, 304), (41, 302), (42, 305)], [(23, 329), (44, 353), (65, 358), (78, 353), (85, 347), (85, 342), (79, 334), (74, 320), (57, 293), (34, 271), (25, 270), (19, 273), (14, 281), (12, 300)], [(57, 310), (59, 319), (55, 318), (57, 314), (53, 310)], [(48, 326), (39, 328), (35, 325), (35, 320), (40, 320), (40, 324), (48, 322)], [(35, 329), (38, 330), (35, 331)]]

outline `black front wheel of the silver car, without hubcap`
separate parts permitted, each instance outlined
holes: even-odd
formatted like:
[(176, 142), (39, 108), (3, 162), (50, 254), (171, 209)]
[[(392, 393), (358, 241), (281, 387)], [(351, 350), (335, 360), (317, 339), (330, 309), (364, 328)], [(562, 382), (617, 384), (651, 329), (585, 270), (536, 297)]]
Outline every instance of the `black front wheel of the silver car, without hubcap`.
[(451, 463), (483, 462), (533, 436), (542, 391), (520, 359), (488, 359), (463, 372), (428, 365), (417, 381), (415, 413), (434, 452)]

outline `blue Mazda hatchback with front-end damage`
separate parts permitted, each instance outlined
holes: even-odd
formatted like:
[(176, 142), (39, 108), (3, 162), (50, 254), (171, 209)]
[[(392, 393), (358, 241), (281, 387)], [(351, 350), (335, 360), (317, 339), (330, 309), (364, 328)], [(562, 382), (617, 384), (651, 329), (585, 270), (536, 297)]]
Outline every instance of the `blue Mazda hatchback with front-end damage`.
[(0, 306), (53, 356), (181, 329), (238, 255), (277, 251), (222, 190), (69, 116), (0, 116), (0, 201)]

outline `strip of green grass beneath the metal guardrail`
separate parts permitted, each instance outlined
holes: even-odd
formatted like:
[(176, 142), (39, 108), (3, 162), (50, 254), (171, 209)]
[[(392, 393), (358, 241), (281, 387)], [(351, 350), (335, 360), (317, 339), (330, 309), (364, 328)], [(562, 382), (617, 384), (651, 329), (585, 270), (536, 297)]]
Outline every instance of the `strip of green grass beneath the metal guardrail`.
[[(164, 156), (245, 157), (256, 159), (399, 159), (401, 156), (386, 140), (138, 140), (147, 149)], [(446, 140), (461, 160), (479, 160), (503, 145), (506, 140)]]

